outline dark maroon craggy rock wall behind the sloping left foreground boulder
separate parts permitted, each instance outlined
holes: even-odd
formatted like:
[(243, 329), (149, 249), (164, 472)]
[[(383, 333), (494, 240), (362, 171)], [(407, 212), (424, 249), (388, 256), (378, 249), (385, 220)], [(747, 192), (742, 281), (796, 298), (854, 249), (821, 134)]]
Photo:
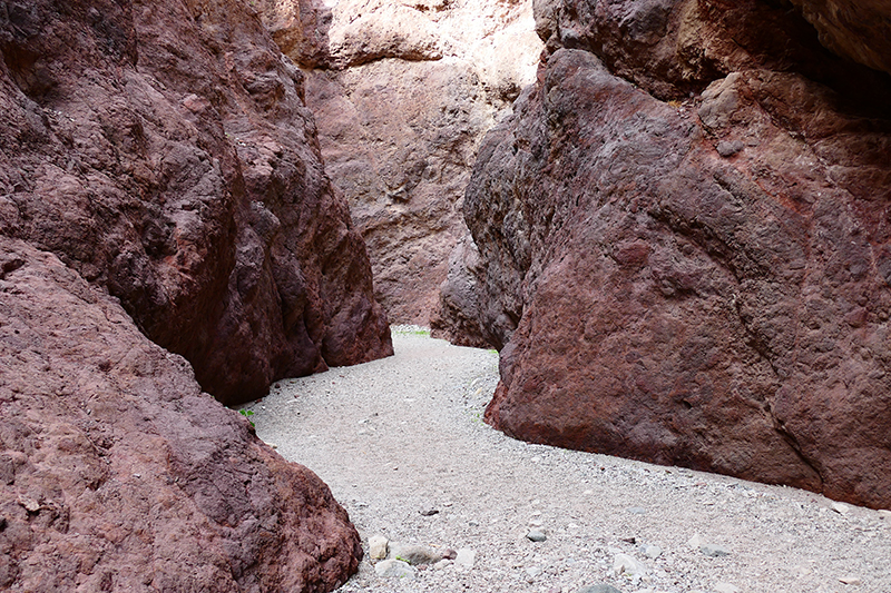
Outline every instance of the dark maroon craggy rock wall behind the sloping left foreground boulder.
[(120, 299), (225, 403), (392, 352), (303, 78), (241, 2), (8, 2), (0, 233)]

